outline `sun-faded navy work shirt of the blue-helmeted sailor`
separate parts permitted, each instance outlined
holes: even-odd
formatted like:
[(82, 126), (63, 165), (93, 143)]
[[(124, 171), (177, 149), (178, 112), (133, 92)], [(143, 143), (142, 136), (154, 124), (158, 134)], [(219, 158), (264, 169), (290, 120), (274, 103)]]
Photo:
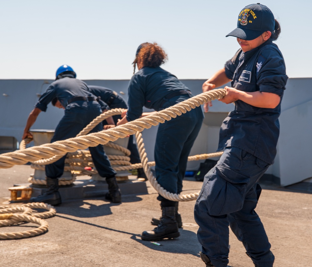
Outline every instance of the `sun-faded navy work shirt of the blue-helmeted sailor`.
[(88, 91), (88, 86), (83, 81), (69, 77), (61, 78), (50, 84), (46, 92), (39, 98), (35, 108), (45, 112), (47, 105), (53, 98), (57, 98), (62, 106), (66, 108), (67, 101), (75, 96), (92, 96), (96, 98)]

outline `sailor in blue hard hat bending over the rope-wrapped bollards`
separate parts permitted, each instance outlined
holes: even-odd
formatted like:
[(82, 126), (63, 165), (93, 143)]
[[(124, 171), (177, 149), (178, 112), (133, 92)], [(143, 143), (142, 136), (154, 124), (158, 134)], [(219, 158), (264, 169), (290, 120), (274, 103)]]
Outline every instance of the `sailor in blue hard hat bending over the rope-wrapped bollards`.
[[(36, 122), (40, 112), (45, 112), (47, 105), (55, 99), (57, 99), (58, 107), (65, 109), (65, 113), (55, 129), (51, 143), (76, 137), (83, 128), (102, 113), (101, 106), (106, 105), (104, 102), (99, 103), (100, 100), (88, 90), (86, 83), (76, 79), (76, 73), (70, 66), (62, 65), (56, 71), (56, 80), (41, 95), (35, 108), (29, 114), (22, 139), (28, 136), (32, 137), (29, 129)], [(112, 118), (111, 121), (113, 121)], [(99, 123), (90, 133), (102, 129), (102, 123)], [(99, 144), (96, 147), (90, 147), (89, 150), (99, 175), (106, 177), (109, 192), (105, 195), (105, 198), (111, 202), (120, 203), (121, 194), (115, 177), (116, 172), (111, 167), (103, 146)], [(31, 202), (44, 202), (51, 205), (61, 204), (58, 178), (64, 172), (65, 158), (66, 155), (56, 162), (46, 165), (46, 184), (48, 188), (42, 195), (31, 198)]]

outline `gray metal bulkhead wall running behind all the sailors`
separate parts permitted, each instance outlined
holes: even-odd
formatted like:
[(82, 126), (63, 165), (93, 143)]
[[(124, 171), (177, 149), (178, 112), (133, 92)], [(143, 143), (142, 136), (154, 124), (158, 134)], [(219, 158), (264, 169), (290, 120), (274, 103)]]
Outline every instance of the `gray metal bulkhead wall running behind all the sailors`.
[[(194, 95), (202, 93), (202, 83), (205, 80), (181, 80)], [(29, 113), (37, 103), (40, 95), (53, 80), (0, 80), (0, 146), (7, 143), (7, 138), (21, 141), (23, 130)], [(89, 85), (105, 86), (119, 93), (126, 101), (128, 99), (129, 80), (85, 80)], [(312, 177), (310, 164), (310, 149), (312, 147), (312, 78), (290, 78), (287, 82), (280, 115), (280, 139), (277, 146), (275, 163), (266, 174), (280, 178), (280, 184), (285, 186)], [(227, 84), (229, 85), (229, 84)], [(209, 113), (205, 113), (202, 129), (195, 141), (190, 155), (212, 153), (217, 149), (218, 134), (222, 120), (233, 110), (232, 104), (225, 105), (213, 101)], [(144, 108), (145, 112), (150, 111)], [(32, 129), (55, 129), (63, 116), (62, 109), (48, 105), (46, 112), (41, 112)], [(187, 127), (187, 125), (185, 126)], [(156, 127), (142, 132), (149, 161), (154, 160), (154, 145)], [(183, 131), (183, 129), (181, 129)], [(31, 144), (32, 145), (32, 144)], [(1, 150), (0, 153), (7, 152)], [(14, 146), (13, 149), (14, 150)], [(202, 160), (203, 161), (203, 160)], [(188, 163), (188, 170), (197, 170), (200, 162)]]

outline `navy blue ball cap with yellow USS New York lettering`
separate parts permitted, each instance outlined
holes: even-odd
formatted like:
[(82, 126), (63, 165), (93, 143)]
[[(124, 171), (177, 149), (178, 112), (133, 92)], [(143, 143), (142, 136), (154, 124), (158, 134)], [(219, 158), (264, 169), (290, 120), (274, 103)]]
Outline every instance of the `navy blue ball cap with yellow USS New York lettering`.
[(241, 10), (238, 15), (237, 28), (228, 36), (243, 40), (253, 40), (266, 31), (274, 31), (275, 20), (271, 10), (260, 3), (251, 4)]

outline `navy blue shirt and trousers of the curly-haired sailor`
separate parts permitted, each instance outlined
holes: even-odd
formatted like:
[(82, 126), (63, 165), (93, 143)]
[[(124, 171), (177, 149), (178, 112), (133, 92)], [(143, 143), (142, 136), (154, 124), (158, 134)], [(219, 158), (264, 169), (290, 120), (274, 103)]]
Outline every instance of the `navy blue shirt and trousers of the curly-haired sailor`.
[[(192, 97), (189, 89), (173, 74), (160, 67), (143, 67), (135, 73), (128, 88), (127, 120), (139, 118), (143, 106), (160, 111)], [(188, 155), (202, 126), (201, 107), (160, 123), (155, 143), (157, 182), (167, 191), (182, 191)], [(168, 202), (158, 195), (159, 201)]]

